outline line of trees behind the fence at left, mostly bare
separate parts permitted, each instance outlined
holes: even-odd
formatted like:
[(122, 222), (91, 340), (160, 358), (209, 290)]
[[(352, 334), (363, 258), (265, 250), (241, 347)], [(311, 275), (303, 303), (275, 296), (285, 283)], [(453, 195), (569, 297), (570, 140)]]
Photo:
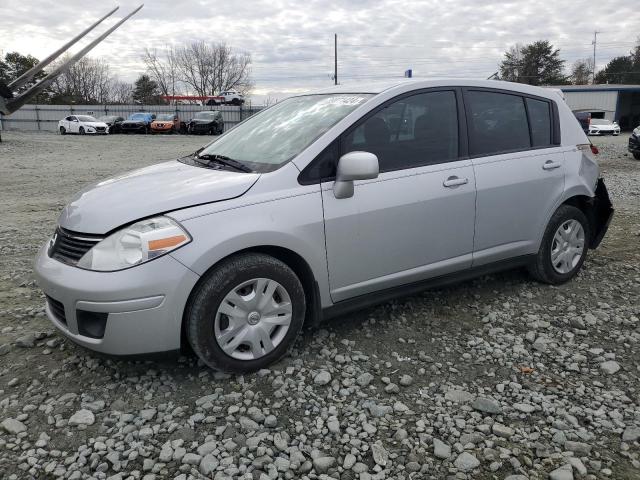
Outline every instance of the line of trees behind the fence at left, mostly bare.
[[(59, 59), (49, 68), (56, 68), (68, 58)], [(84, 57), (65, 70), (34, 102), (154, 105), (167, 103), (162, 99), (167, 95), (205, 96), (230, 89), (247, 93), (253, 86), (251, 56), (236, 53), (224, 43), (196, 41), (161, 51), (146, 49), (141, 60), (145, 72), (135, 82), (126, 82), (113, 74), (104, 59)], [(37, 63), (32, 55), (0, 54), (0, 81), (8, 84)], [(45, 75), (46, 72), (40, 72), (33, 83)], [(23, 90), (30, 86), (24, 86)]]

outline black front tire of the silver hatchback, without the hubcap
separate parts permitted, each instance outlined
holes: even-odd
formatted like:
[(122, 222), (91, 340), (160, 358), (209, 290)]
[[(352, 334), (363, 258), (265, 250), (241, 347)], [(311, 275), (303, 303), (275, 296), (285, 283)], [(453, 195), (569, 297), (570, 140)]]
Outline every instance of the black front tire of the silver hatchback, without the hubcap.
[[(270, 353), (253, 360), (240, 360), (225, 353), (214, 335), (216, 312), (225, 296), (237, 285), (253, 278), (269, 278), (282, 285), (292, 304), (289, 330)], [(248, 373), (282, 358), (293, 346), (305, 317), (302, 283), (284, 262), (259, 253), (240, 254), (210, 270), (194, 289), (185, 310), (189, 344), (209, 367), (229, 373)]]

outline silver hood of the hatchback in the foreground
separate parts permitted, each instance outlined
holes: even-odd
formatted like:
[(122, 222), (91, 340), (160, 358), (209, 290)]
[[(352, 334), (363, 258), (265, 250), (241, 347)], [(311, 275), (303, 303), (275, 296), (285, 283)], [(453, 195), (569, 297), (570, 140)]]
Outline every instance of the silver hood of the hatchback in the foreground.
[(194, 167), (177, 160), (99, 182), (77, 193), (60, 214), (62, 228), (105, 234), (140, 218), (239, 197), (258, 173)]

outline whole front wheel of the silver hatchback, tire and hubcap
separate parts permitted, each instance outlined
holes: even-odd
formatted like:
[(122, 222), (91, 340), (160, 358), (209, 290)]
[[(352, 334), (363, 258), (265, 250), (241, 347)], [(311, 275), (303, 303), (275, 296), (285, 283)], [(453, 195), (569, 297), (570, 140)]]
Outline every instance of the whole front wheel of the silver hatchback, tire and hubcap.
[(191, 295), (187, 338), (209, 367), (232, 373), (265, 368), (293, 345), (305, 316), (296, 274), (268, 255), (248, 253), (211, 270)]

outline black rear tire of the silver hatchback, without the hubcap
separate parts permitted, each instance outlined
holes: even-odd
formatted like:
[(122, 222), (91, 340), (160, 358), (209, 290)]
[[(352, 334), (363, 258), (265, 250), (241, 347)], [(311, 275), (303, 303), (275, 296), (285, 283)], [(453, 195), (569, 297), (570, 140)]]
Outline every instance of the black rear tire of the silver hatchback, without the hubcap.
[[(568, 220), (576, 220), (582, 226), (584, 230), (584, 245), (582, 248), (582, 255), (576, 265), (567, 273), (560, 273), (556, 271), (551, 261), (551, 250), (553, 248), (556, 232), (560, 226)], [(544, 236), (542, 237), (540, 250), (536, 255), (535, 261), (529, 265), (529, 273), (533, 278), (542, 283), (560, 285), (568, 282), (575, 277), (582, 267), (584, 260), (587, 258), (590, 239), (591, 229), (589, 227), (589, 221), (582, 210), (571, 205), (561, 205), (549, 220)]]

